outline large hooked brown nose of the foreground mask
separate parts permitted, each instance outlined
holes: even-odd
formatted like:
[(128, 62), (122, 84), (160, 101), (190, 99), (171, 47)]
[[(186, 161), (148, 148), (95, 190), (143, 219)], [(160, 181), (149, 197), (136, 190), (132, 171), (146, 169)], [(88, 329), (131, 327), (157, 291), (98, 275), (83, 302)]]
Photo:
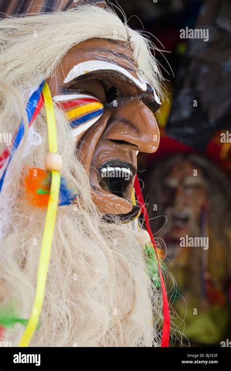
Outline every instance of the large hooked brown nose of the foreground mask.
[(153, 112), (140, 97), (119, 99), (110, 107), (111, 118), (104, 137), (118, 144), (132, 145), (140, 152), (154, 153), (159, 145), (159, 128)]

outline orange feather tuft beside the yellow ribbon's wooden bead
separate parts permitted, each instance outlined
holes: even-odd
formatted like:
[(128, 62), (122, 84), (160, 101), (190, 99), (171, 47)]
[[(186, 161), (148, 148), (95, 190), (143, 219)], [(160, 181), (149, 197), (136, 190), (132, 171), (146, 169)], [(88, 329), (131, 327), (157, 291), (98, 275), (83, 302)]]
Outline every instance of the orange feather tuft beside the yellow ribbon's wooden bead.
[(51, 188), (50, 171), (28, 168), (25, 177), (26, 199), (32, 206), (47, 207)]

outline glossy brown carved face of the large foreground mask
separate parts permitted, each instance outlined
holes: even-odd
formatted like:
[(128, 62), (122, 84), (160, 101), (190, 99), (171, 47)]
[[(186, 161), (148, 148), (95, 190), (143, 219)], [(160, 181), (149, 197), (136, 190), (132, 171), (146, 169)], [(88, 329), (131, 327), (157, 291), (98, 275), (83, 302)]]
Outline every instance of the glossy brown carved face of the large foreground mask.
[(160, 102), (139, 74), (128, 43), (90, 39), (73, 46), (47, 79), (70, 120), (78, 160), (104, 214), (133, 214), (138, 151), (155, 152)]

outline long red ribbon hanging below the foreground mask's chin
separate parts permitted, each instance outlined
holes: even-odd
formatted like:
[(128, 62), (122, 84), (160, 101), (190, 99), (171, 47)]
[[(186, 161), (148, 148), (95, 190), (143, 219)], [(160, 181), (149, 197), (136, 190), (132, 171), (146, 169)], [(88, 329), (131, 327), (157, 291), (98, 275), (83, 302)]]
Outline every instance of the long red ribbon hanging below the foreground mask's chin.
[(134, 186), (135, 186), (135, 194), (136, 194), (137, 202), (138, 202), (139, 206), (141, 207), (142, 214), (143, 214), (145, 222), (146, 222), (146, 227), (147, 227), (149, 236), (150, 236), (151, 241), (153, 243), (153, 247), (154, 247), (154, 250), (155, 250), (155, 254), (156, 254), (157, 261), (158, 261), (158, 266), (159, 266), (159, 274), (160, 274), (161, 289), (162, 289), (162, 296), (163, 296), (163, 314), (164, 314), (161, 347), (169, 347), (170, 315), (169, 315), (169, 303), (168, 303), (168, 298), (167, 298), (167, 292), (166, 292), (166, 288), (165, 288), (165, 283), (164, 283), (162, 271), (161, 271), (161, 268), (160, 268), (160, 262), (159, 262), (159, 257), (158, 257), (156, 245), (155, 245), (155, 240), (154, 240), (153, 233), (152, 233), (152, 230), (151, 230), (150, 225), (149, 225), (148, 212), (147, 212), (147, 209), (144, 205), (144, 199), (143, 199), (143, 195), (142, 195), (142, 192), (141, 192), (141, 188), (140, 188), (140, 184), (139, 184), (137, 174), (135, 176)]

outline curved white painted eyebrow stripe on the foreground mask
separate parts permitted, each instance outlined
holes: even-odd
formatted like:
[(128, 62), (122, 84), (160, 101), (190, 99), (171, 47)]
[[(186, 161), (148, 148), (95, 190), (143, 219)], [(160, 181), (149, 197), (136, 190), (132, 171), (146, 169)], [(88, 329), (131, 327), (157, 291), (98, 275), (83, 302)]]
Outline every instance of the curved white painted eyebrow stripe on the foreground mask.
[(128, 72), (125, 68), (120, 67), (115, 63), (104, 62), (104, 61), (86, 61), (81, 62), (75, 65), (68, 73), (67, 77), (64, 80), (64, 83), (70, 82), (73, 79), (76, 79), (79, 76), (85, 75), (89, 72), (95, 72), (100, 70), (111, 70), (121, 73), (122, 75), (126, 76), (133, 82), (135, 85), (138, 86), (141, 90), (145, 91), (147, 89), (146, 82), (144, 79), (137, 74), (138, 79), (136, 79), (130, 72)]

